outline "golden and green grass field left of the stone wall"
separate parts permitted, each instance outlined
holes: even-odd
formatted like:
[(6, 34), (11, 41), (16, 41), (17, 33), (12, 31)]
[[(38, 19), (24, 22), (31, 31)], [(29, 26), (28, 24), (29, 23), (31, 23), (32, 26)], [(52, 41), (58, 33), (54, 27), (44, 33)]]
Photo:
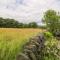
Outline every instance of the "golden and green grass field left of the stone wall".
[(15, 60), (29, 38), (42, 31), (41, 29), (0, 28), (0, 60)]

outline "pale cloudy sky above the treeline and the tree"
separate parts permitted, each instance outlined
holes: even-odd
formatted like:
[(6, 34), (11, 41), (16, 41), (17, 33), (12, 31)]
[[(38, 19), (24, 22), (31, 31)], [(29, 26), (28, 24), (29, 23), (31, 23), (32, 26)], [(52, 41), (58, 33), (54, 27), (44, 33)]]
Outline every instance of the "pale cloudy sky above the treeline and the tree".
[(44, 12), (49, 9), (60, 11), (60, 0), (0, 0), (0, 17), (23, 23), (41, 23)]

